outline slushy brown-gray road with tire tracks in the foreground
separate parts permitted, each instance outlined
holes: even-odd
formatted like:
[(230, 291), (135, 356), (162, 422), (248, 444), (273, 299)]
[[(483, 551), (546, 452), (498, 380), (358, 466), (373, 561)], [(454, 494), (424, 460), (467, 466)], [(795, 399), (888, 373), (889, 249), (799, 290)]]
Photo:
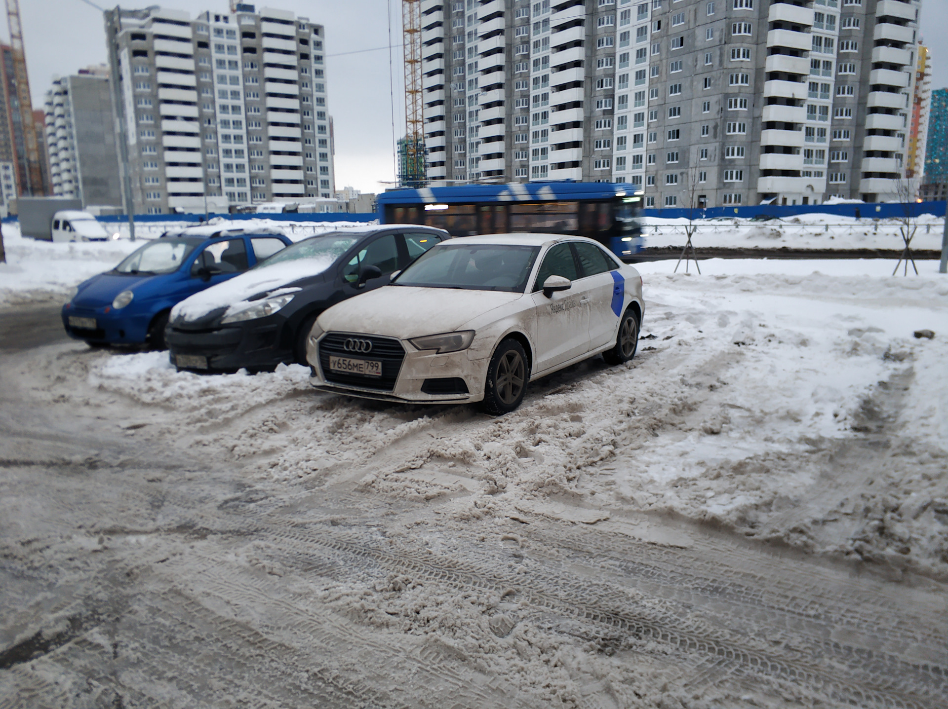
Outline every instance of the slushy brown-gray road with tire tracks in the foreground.
[[(315, 393), (146, 406), (89, 378), (121, 353), (64, 341), (54, 317), (4, 318), (3, 709), (948, 705), (936, 579), (581, 484), (502, 506), (462, 447), (426, 452), (460, 436), (537, 468), (538, 424), (593, 420), (556, 392), (598, 365), (544, 380), (520, 418)], [(322, 414), (330, 460), (278, 474)], [(379, 417), (382, 445), (346, 447)], [(631, 455), (578, 480), (608, 490)]]

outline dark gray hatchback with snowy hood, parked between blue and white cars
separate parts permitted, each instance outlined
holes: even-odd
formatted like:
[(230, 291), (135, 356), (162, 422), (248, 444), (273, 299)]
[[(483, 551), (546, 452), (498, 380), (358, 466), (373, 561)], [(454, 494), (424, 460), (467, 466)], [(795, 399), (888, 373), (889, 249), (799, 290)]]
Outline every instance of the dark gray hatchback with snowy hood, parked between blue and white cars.
[(319, 313), (386, 285), (393, 272), (449, 238), (442, 229), (386, 225), (287, 246), (175, 306), (165, 330), (172, 364), (198, 372), (305, 364), (306, 336)]

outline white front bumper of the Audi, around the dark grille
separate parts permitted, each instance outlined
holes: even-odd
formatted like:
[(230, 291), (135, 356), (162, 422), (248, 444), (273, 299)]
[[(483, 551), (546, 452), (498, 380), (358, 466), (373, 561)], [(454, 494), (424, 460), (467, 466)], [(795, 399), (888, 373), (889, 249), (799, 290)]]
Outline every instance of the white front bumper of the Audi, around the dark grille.
[[(419, 352), (408, 340), (399, 340), (405, 350), (405, 356), (395, 377), (394, 385), (389, 390), (383, 387), (366, 386), (362, 383), (364, 379), (359, 384), (350, 384), (340, 381), (339, 375), (327, 378), (319, 357), (319, 344), (329, 335), (338, 335), (338, 333), (324, 333), (319, 337), (315, 347), (309, 348), (309, 363), (312, 372), (309, 382), (319, 391), (379, 401), (415, 404), (450, 404), (483, 400), (490, 357), (470, 358), (470, 355), (476, 352), (473, 344), (461, 352), (438, 355), (432, 350)], [(372, 356), (354, 355), (354, 358), (371, 359)], [(444, 393), (446, 387), (439, 386), (447, 384), (447, 388), (453, 388), (452, 380), (458, 379), (464, 381), (467, 390), (465, 393)]]

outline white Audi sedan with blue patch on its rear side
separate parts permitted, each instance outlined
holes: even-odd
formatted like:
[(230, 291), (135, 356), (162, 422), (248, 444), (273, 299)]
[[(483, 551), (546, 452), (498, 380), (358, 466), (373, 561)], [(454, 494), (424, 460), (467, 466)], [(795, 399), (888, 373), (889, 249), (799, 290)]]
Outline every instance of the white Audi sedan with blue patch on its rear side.
[(592, 239), (469, 236), (392, 283), (326, 309), (307, 341), (320, 391), (413, 403), (520, 406), (527, 382), (603, 355), (635, 355), (642, 277)]

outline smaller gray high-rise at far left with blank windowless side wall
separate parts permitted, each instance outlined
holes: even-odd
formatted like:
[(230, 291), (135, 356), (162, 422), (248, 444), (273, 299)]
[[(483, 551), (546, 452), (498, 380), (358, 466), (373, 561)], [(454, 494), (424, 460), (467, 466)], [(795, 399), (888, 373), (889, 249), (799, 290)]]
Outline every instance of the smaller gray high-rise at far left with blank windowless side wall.
[(116, 122), (104, 64), (54, 77), (46, 91), (46, 151), (52, 193), (82, 205), (120, 207)]

